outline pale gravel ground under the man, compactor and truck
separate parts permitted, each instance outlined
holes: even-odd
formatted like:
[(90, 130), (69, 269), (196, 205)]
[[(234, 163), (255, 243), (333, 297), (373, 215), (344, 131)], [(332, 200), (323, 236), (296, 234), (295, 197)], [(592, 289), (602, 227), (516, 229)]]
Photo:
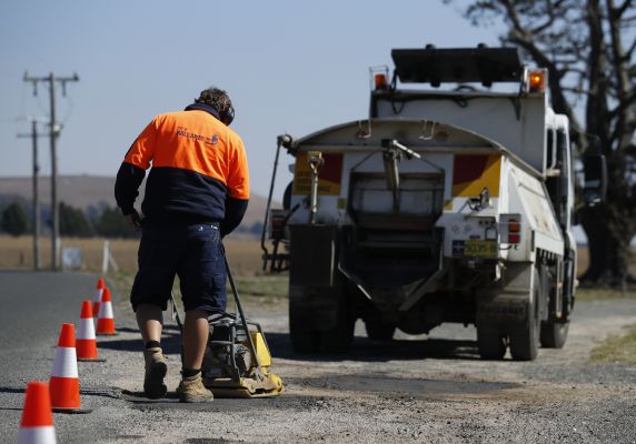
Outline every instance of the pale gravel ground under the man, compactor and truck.
[[(179, 404), (170, 394), (162, 401), (143, 398), (141, 343), (128, 303), (117, 294), (120, 333), (99, 340), (108, 361), (79, 365), (82, 406), (93, 412), (56, 414), (58, 441), (636, 443), (636, 366), (588, 363), (596, 344), (636, 323), (634, 301), (579, 303), (565, 349), (541, 349), (529, 363), (509, 356), (479, 360), (475, 330), (457, 325), (378, 343), (367, 340), (358, 323), (350, 354), (296, 355), (284, 304), (250, 301), (246, 309), (267, 333), (274, 370), (286, 383), (280, 397), (205, 405)], [(171, 321), (166, 324), (167, 383), (173, 391), (179, 335)], [(50, 351), (32, 357), (33, 365), (48, 369)], [(2, 441), (14, 442), (23, 396), (19, 387), (27, 376), (4, 379), (0, 431)]]

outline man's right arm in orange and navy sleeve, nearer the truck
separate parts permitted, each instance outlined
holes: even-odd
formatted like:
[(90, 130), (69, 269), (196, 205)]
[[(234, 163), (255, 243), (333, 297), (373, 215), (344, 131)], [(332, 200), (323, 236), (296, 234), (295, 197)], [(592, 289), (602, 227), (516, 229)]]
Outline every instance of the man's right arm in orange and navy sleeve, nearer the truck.
[(231, 233), (242, 221), (249, 202), (249, 171), (242, 141), (237, 137), (230, 155), (226, 216), (221, 223), (221, 235)]

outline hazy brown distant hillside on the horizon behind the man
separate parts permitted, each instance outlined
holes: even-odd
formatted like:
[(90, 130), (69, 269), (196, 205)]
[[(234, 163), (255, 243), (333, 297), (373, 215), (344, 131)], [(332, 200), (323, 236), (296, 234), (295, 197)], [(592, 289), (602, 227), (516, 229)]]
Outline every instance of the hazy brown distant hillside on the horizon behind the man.
[[(31, 202), (32, 198), (31, 178), (0, 178), (0, 205), (8, 201), (20, 200)], [(86, 212), (96, 211), (105, 205), (116, 206), (115, 178), (99, 175), (60, 175), (58, 179), (58, 201), (76, 208), (81, 208)], [(51, 178), (39, 178), (40, 203), (42, 208), (49, 206), (51, 202)], [(140, 196), (137, 200), (139, 209), (143, 198), (143, 185)], [(252, 193), (247, 214), (241, 223), (244, 228), (250, 228), (257, 222), (262, 222), (267, 199)]]

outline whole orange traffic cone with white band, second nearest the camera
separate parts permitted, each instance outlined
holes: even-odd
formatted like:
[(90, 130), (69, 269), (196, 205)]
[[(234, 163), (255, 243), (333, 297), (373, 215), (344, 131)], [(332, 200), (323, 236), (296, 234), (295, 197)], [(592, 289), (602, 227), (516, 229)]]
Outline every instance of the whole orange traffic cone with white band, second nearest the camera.
[(85, 413), (80, 408), (78, 362), (76, 355), (76, 327), (62, 324), (53, 371), (49, 380), (53, 412)]

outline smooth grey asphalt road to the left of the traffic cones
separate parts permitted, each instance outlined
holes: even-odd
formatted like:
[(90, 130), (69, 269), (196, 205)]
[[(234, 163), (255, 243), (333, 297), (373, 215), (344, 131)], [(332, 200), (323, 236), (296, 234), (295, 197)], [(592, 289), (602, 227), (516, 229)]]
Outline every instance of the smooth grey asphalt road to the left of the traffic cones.
[[(0, 272), (0, 436), (16, 442), (29, 381), (48, 381), (62, 323), (77, 325), (81, 301), (92, 301), (96, 278), (79, 273)], [(70, 416), (67, 416), (70, 418)], [(66, 442), (66, 418), (58, 441)], [(91, 442), (93, 432), (74, 427), (78, 442)]]

